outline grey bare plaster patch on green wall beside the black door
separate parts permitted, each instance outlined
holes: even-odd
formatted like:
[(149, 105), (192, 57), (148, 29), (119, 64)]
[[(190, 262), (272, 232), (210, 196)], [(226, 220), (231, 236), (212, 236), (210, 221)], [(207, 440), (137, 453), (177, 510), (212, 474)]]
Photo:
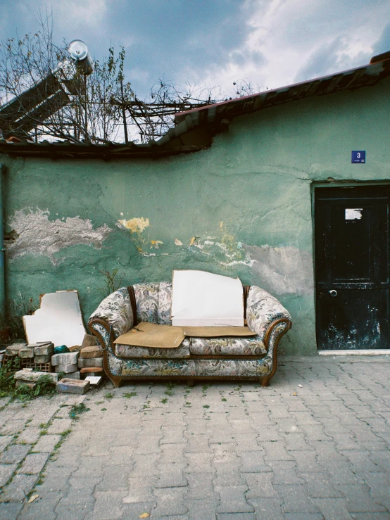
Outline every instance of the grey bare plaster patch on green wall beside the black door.
[(253, 274), (266, 291), (275, 294), (312, 294), (313, 257), (309, 251), (291, 246), (249, 246), (243, 244), (253, 263)]

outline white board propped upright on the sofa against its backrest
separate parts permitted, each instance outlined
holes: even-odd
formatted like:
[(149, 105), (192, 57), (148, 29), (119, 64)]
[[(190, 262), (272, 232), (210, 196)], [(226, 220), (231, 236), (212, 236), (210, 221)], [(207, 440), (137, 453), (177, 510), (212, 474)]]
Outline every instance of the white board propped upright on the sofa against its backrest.
[(177, 326), (244, 326), (241, 281), (205, 271), (173, 271), (171, 315)]

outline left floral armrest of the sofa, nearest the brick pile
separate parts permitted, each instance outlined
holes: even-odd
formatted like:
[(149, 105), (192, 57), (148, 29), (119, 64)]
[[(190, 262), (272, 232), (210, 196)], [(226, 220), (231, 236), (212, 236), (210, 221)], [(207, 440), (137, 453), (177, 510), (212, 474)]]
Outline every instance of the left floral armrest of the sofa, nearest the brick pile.
[(113, 331), (114, 339), (129, 331), (134, 323), (132, 305), (127, 287), (122, 287), (104, 298), (89, 318), (88, 326), (100, 324)]

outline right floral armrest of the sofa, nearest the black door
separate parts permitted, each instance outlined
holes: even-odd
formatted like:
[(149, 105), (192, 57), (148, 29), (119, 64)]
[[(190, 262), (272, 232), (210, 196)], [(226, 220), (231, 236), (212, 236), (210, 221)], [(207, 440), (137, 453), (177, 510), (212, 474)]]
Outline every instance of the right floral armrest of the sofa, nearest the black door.
[(246, 300), (246, 321), (249, 329), (257, 332), (260, 339), (264, 341), (268, 326), (279, 318), (291, 320), (288, 310), (277, 298), (256, 285), (251, 286)]

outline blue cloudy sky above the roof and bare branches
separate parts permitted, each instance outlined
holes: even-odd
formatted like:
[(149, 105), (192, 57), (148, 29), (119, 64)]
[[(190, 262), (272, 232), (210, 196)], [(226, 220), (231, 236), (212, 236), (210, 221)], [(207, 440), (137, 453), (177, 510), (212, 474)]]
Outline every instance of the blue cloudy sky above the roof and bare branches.
[(53, 13), (56, 39), (83, 39), (93, 56), (126, 49), (139, 96), (160, 77), (269, 89), (390, 51), (389, 0), (0, 0), (0, 39), (37, 30)]

